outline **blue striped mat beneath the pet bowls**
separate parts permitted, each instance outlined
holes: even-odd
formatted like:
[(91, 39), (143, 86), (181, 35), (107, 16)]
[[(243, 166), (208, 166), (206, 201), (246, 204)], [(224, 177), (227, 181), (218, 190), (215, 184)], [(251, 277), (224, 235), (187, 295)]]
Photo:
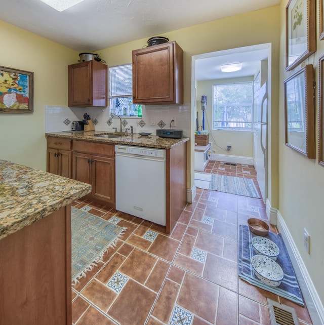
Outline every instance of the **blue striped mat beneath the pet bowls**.
[(255, 236), (246, 225), (239, 225), (239, 249), (238, 249), (238, 276), (251, 283), (256, 287), (272, 292), (275, 295), (284, 297), (288, 300), (294, 301), (297, 304), (304, 306), (303, 297), (296, 279), (296, 274), (288, 255), (287, 248), (281, 234), (269, 232), (266, 238), (276, 243), (280, 254), (276, 262), (284, 271), (284, 279), (281, 281), (279, 287), (270, 287), (261, 282), (255, 275), (253, 267), (251, 266), (251, 258), (254, 253), (252, 246), (252, 238)]

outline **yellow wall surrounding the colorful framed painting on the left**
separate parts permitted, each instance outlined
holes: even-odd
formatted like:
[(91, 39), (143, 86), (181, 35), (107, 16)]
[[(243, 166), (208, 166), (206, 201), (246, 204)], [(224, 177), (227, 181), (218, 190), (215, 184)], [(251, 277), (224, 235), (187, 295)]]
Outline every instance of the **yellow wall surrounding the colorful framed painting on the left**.
[(45, 105), (67, 106), (67, 65), (78, 53), (0, 21), (0, 64), (34, 72), (34, 112), (0, 113), (0, 158), (46, 170)]

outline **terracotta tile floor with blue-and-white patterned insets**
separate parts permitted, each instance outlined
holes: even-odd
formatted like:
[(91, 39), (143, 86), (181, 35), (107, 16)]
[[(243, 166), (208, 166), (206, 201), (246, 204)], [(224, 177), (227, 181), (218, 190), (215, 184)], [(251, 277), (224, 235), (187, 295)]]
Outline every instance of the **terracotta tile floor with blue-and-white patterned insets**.
[[(253, 166), (209, 161), (205, 171), (256, 182)], [(293, 306), (300, 323), (311, 324), (307, 308), (238, 278), (238, 224), (250, 217), (267, 219), (261, 199), (197, 188), (170, 235), (161, 226), (89, 200), (73, 206), (88, 206), (89, 213), (106, 220), (115, 216), (128, 228), (105, 254), (105, 264), (72, 289), (74, 324), (268, 325), (267, 298)], [(112, 279), (119, 291), (109, 288)]]

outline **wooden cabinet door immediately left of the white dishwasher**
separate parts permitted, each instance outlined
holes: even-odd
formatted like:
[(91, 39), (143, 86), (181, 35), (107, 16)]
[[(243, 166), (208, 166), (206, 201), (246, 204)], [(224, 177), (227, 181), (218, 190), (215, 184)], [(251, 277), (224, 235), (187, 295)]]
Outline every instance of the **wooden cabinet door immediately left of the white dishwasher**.
[(113, 158), (92, 156), (92, 196), (115, 202), (115, 161)]

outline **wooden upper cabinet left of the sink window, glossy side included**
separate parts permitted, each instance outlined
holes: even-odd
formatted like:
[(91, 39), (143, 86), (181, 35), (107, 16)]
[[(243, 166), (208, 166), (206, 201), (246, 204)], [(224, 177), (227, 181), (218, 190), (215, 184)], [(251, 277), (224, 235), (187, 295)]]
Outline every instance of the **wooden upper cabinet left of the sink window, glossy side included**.
[(68, 66), (68, 106), (107, 106), (107, 65), (92, 60)]

